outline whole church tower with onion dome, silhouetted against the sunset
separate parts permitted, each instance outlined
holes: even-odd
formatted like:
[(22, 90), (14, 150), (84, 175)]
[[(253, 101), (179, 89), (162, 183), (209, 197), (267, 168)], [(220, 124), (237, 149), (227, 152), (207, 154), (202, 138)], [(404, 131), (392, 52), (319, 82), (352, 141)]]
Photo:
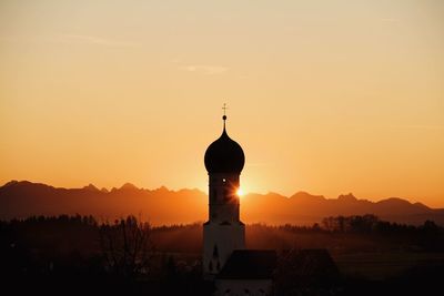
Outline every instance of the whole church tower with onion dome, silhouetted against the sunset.
[(245, 248), (245, 225), (239, 216), (240, 174), (245, 163), (242, 147), (226, 133), (205, 152), (209, 173), (209, 221), (203, 225), (203, 275), (212, 279), (234, 249)]

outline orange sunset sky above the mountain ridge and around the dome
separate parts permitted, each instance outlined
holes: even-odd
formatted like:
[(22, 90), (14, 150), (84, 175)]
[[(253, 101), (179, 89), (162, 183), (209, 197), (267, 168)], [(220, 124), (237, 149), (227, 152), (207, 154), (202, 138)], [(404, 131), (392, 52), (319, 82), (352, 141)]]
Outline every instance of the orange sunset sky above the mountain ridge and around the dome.
[(0, 182), (444, 207), (444, 1), (0, 1)]

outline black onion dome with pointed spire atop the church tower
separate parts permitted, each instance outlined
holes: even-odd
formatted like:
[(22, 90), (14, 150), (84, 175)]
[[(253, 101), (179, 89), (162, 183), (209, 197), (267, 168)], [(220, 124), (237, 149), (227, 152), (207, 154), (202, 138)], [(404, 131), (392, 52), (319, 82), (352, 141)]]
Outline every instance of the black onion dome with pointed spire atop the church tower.
[(211, 173), (238, 173), (242, 172), (245, 164), (245, 155), (240, 144), (231, 140), (226, 134), (225, 120), (223, 115), (222, 135), (211, 143), (205, 152), (205, 167)]

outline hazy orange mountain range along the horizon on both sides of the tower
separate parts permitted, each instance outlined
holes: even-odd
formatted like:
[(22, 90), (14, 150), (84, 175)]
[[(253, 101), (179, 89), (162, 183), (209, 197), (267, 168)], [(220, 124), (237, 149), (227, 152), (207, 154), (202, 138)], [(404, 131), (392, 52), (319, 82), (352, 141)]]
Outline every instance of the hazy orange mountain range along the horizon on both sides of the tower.
[[(111, 191), (92, 184), (58, 188), (28, 181), (11, 181), (0, 187), (0, 220), (77, 213), (110, 221), (133, 214), (154, 225), (203, 222), (208, 217), (208, 196), (199, 190), (145, 190), (130, 183)], [(290, 197), (276, 193), (248, 194), (241, 200), (245, 223), (311, 225), (326, 216), (363, 214), (407, 224), (433, 220), (444, 225), (444, 208), (396, 197), (370, 202), (347, 194), (330, 200), (299, 192)]]

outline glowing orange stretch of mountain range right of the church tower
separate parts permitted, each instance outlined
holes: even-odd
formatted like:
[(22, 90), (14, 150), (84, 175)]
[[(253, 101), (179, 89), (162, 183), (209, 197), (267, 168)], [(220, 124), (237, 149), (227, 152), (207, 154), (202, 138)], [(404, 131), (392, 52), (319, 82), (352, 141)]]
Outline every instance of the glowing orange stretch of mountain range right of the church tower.
[(444, 208), (430, 208), (424, 204), (412, 204), (397, 197), (370, 202), (359, 200), (353, 194), (340, 195), (337, 198), (325, 198), (305, 192), (290, 197), (272, 193), (249, 194), (243, 198), (241, 208), (248, 222), (272, 221), (273, 224), (290, 222), (310, 225), (326, 216), (374, 214), (382, 220), (397, 223), (417, 225), (433, 220), (444, 225)]

